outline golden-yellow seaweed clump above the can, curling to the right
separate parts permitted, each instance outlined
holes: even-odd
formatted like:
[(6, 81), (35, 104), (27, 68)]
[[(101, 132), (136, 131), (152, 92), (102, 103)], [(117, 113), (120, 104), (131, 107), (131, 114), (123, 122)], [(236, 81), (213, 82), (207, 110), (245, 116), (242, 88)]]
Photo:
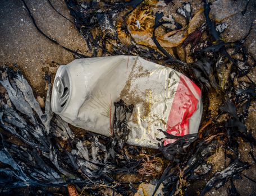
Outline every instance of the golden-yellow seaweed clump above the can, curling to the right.
[[(152, 40), (153, 26), (155, 21), (157, 1), (149, 0), (141, 3), (126, 17), (127, 30), (136, 43), (156, 48)], [(156, 38), (164, 48), (172, 48), (179, 46), (187, 38), (188, 34), (193, 32), (204, 22), (202, 10), (195, 13), (188, 25), (181, 29), (170, 30), (166, 32), (164, 27), (158, 27), (156, 30)], [(118, 28), (117, 28), (118, 29)]]

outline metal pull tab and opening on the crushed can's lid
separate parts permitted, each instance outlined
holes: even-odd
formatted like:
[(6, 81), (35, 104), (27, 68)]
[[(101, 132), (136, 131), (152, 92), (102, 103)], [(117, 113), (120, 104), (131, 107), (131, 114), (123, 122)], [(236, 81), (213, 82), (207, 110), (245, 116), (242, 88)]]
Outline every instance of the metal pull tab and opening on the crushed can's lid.
[(54, 87), (59, 97), (59, 104), (63, 107), (68, 99), (69, 89), (65, 87), (60, 77), (57, 77), (55, 80)]

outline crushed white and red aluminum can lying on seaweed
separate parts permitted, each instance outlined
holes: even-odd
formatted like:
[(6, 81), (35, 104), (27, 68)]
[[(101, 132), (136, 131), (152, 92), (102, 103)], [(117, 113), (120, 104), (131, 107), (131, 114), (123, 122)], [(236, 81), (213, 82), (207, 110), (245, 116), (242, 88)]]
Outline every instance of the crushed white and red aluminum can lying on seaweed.
[(171, 68), (125, 55), (76, 59), (58, 68), (51, 104), (66, 122), (111, 137), (120, 99), (134, 105), (129, 144), (157, 148), (157, 138), (165, 137), (158, 129), (175, 136), (198, 132), (200, 89)]

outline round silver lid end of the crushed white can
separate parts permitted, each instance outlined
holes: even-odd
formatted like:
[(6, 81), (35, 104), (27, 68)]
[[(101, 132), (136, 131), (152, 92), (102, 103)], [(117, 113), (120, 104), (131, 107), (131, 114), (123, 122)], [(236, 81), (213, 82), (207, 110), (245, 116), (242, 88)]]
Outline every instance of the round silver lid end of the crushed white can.
[(70, 77), (66, 66), (58, 68), (52, 90), (52, 111), (61, 113), (67, 106), (70, 98)]

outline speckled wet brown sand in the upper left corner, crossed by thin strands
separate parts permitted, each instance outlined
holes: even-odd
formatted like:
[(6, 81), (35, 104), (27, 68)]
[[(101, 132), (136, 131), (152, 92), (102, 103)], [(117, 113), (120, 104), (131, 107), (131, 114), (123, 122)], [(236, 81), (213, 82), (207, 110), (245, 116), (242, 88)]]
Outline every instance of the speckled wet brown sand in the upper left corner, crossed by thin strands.
[[(74, 24), (58, 15), (46, 0), (26, 3), (45, 34), (67, 48), (86, 53), (86, 43)], [(53, 1), (52, 4), (73, 20), (65, 1)], [(74, 55), (36, 30), (21, 1), (1, 1), (0, 16), (0, 63), (19, 64), (35, 94), (44, 96), (44, 72), (55, 73), (58, 64), (71, 62)]]

